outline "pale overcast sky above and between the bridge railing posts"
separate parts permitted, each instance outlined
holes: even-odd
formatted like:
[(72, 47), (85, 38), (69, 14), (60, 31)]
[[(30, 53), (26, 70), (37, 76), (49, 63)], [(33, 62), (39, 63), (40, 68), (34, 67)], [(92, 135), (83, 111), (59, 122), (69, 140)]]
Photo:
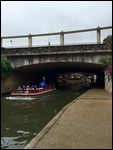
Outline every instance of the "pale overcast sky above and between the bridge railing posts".
[[(112, 26), (112, 1), (1, 1), (1, 36), (43, 34)], [(101, 42), (112, 29), (101, 31)], [(65, 44), (95, 43), (96, 31), (66, 34)], [(11, 42), (12, 41), (12, 42)], [(33, 46), (60, 44), (59, 35), (34, 37)], [(6, 39), (3, 46), (27, 46), (28, 39)]]

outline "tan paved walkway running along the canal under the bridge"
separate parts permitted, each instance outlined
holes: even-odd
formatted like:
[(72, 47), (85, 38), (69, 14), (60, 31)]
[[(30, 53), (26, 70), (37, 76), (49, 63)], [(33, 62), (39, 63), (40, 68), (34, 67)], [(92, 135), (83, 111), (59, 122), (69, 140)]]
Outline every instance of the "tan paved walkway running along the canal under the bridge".
[(25, 149), (112, 149), (112, 95), (90, 89), (65, 106)]

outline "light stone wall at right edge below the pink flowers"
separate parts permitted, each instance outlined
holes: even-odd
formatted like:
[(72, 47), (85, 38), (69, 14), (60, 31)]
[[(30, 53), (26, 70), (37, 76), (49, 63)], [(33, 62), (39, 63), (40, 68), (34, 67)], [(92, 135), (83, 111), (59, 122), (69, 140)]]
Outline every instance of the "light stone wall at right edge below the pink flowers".
[(105, 90), (112, 93), (112, 75), (105, 73)]

